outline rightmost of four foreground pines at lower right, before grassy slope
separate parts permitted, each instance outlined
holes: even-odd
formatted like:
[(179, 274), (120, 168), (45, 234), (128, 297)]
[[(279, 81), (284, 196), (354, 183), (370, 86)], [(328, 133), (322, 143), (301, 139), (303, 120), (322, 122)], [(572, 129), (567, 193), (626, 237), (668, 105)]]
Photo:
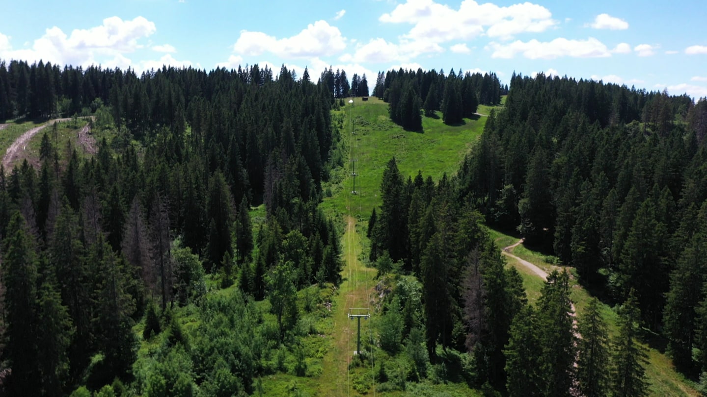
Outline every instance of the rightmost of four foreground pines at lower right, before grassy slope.
[(619, 311), (619, 334), (614, 338), (613, 367), (610, 391), (617, 397), (648, 396), (648, 381), (645, 379), (645, 365), (648, 354), (643, 345), (638, 343), (638, 310), (633, 290), (629, 299)]

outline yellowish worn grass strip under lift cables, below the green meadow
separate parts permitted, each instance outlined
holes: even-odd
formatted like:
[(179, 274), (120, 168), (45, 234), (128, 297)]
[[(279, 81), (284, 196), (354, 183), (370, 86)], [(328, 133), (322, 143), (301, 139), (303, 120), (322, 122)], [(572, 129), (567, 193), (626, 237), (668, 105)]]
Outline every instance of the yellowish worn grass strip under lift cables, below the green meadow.
[[(344, 252), (344, 270), (341, 271), (343, 281), (339, 285), (339, 293), (332, 305), (333, 347), (324, 357), (322, 375), (320, 377), (320, 396), (357, 396), (351, 387), (349, 364), (354, 359), (356, 350), (357, 324), (349, 319), (350, 308), (366, 308), (372, 304), (375, 283), (373, 277), (375, 268), (367, 268), (358, 260), (361, 254), (361, 236), (356, 232), (356, 218), (346, 215), (346, 230), (341, 238), (341, 249)], [(363, 314), (363, 313), (356, 313)], [(369, 321), (361, 321), (361, 345), (370, 339)], [(375, 387), (375, 386), (374, 386)]]

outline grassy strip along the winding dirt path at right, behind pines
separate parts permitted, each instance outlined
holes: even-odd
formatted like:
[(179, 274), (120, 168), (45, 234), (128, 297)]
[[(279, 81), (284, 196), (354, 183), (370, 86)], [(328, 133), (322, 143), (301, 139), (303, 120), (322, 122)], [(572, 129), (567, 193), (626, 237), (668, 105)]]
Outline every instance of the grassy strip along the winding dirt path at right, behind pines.
[[(496, 244), (498, 244), (499, 247), (508, 247), (508, 245), (510, 245), (508, 244), (509, 242), (518, 241), (516, 237), (505, 235), (503, 232), (497, 230), (491, 230), (491, 236), (496, 240)], [(556, 268), (556, 266), (546, 261), (547, 256), (537, 251), (527, 249), (527, 247), (524, 247), (522, 244), (515, 247), (512, 252), (514, 255), (534, 263), (545, 271), (551, 271), (552, 268)], [(544, 281), (535, 275), (535, 273), (532, 273), (532, 271), (528, 271), (527, 268), (518, 263), (518, 261), (508, 259), (508, 263), (518, 268), (518, 271), (522, 275), (523, 285), (525, 286), (529, 302), (537, 302)], [(573, 274), (570, 281), (572, 301), (575, 304), (578, 315), (581, 316), (591, 296), (587, 290), (577, 283), (574, 268), (568, 267), (567, 269)], [(612, 307), (603, 303), (601, 304), (601, 310), (604, 320), (607, 321), (607, 325), (609, 326), (609, 335), (615, 336), (619, 331), (617, 312)], [(699, 393), (691, 386), (691, 382), (687, 381), (682, 374), (676, 372), (670, 358), (659, 350), (653, 348), (648, 349), (648, 366), (645, 367), (645, 373), (650, 382), (651, 396), (699, 396)]]

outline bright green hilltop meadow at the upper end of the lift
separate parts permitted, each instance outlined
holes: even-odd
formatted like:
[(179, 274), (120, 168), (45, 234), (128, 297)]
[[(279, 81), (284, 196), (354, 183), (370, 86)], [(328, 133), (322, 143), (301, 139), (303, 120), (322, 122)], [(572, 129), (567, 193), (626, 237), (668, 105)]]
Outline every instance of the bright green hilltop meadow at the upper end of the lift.
[[(438, 113), (439, 116), (441, 114)], [(330, 215), (360, 214), (368, 219), (370, 211), (380, 203), (380, 179), (388, 160), (395, 156), (404, 179), (415, 177), (418, 171), (424, 177), (430, 175), (438, 180), (446, 172), (454, 174), (464, 155), (484, 131), (486, 117), (464, 119), (460, 126), (443, 124), (438, 119), (423, 117), (423, 133), (404, 131), (388, 117), (388, 105), (375, 97), (367, 102), (354, 99), (354, 106), (348, 105), (334, 112), (343, 126), (341, 150), (344, 169), (334, 171), (333, 182), (323, 188), (331, 189), (332, 197), (325, 198), (322, 208)], [(354, 119), (354, 139), (351, 135), (351, 119)], [(357, 196), (350, 194), (353, 179), (350, 177), (349, 158), (356, 162)]]

